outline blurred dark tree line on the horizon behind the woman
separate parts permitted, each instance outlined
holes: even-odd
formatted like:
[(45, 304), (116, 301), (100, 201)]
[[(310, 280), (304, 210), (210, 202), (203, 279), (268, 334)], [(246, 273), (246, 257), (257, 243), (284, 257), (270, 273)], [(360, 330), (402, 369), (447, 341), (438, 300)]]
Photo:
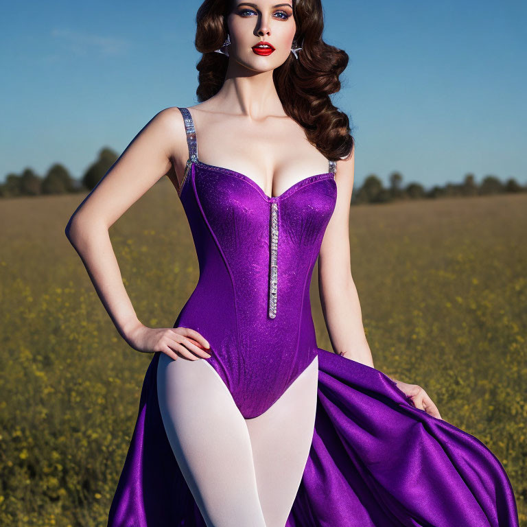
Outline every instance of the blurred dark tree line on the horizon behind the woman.
[[(0, 197), (91, 191), (117, 159), (119, 159), (117, 152), (110, 148), (102, 148), (97, 159), (86, 169), (80, 180), (73, 179), (68, 169), (60, 163), (52, 165), (43, 177), (35, 174), (32, 169), (26, 168), (21, 174), (8, 174), (5, 183), (0, 184)], [(527, 185), (520, 185), (514, 178), (509, 178), (503, 183), (496, 176), (489, 175), (478, 184), (473, 174), (466, 174), (462, 183), (447, 183), (443, 187), (434, 185), (427, 190), (421, 183), (410, 182), (403, 185), (401, 173), (392, 172), (389, 176), (389, 187), (384, 187), (382, 180), (375, 174), (369, 174), (359, 188), (353, 189), (351, 204), (452, 196), (484, 196), (526, 191)]]

